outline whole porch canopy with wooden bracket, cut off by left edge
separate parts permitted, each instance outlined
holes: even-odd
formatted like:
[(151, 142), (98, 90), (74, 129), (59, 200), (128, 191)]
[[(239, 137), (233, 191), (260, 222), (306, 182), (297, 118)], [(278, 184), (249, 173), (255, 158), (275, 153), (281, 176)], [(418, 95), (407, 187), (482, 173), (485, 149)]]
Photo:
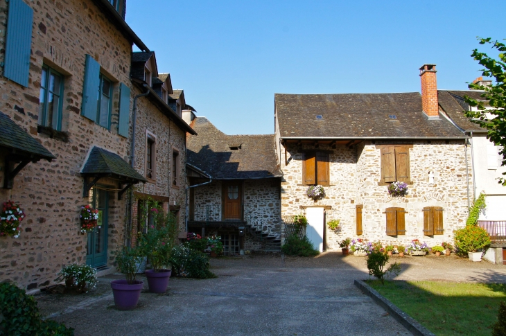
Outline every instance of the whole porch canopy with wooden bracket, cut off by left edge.
[[(30, 162), (56, 157), (30, 134), (0, 112), (0, 148), (6, 149), (3, 188), (12, 189), (14, 177)], [(15, 166), (17, 164), (17, 166)]]

